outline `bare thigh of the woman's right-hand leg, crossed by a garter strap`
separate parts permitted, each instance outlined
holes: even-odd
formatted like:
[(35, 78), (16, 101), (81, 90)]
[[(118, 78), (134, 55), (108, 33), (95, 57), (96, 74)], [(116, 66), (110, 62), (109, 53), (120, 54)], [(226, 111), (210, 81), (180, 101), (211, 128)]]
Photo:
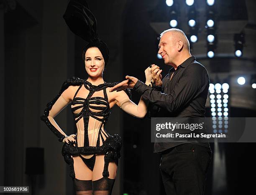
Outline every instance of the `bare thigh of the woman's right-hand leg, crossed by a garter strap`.
[[(99, 154), (99, 155), (96, 154), (95, 165), (92, 172), (92, 181), (99, 180), (100, 178), (103, 177), (102, 172), (104, 169), (104, 156), (105, 155), (102, 155), (102, 154)], [(110, 162), (108, 165), (108, 172), (109, 172), (108, 178), (115, 179), (117, 170), (118, 170), (117, 164), (115, 162)]]

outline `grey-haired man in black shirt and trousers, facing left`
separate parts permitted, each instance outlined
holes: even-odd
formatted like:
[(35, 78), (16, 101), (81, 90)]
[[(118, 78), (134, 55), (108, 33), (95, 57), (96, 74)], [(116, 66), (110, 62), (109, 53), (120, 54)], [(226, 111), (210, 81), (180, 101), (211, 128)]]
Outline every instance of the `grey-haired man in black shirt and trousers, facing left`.
[[(161, 70), (152, 65), (153, 87), (135, 77), (110, 91), (133, 88), (151, 104), (160, 107), (162, 117), (204, 117), (209, 76), (204, 66), (189, 51), (182, 30), (171, 28), (160, 35), (158, 53), (172, 66), (161, 80)], [(155, 143), (154, 152), (162, 154), (160, 170), (167, 195), (202, 195), (211, 159), (208, 143)]]

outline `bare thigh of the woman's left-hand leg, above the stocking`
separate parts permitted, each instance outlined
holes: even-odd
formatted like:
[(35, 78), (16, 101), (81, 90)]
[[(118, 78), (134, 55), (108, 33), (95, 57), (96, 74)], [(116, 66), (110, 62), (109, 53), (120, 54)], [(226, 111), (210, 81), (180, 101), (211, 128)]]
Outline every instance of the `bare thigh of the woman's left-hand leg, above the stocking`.
[(92, 180), (92, 171), (84, 164), (79, 156), (73, 157), (74, 172), (78, 180)]

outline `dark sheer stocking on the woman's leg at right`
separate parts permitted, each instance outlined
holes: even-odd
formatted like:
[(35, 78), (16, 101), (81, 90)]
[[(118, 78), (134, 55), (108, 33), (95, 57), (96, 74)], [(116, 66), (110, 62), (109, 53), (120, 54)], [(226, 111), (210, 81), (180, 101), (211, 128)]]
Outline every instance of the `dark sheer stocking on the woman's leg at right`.
[(111, 195), (115, 179), (102, 177), (99, 180), (92, 181), (93, 195)]

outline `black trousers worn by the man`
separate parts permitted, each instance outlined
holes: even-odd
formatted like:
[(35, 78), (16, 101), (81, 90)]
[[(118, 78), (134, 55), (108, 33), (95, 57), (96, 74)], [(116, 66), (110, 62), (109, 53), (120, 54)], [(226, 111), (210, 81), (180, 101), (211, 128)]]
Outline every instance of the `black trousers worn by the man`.
[(160, 170), (166, 195), (203, 195), (210, 148), (181, 144), (162, 154)]

